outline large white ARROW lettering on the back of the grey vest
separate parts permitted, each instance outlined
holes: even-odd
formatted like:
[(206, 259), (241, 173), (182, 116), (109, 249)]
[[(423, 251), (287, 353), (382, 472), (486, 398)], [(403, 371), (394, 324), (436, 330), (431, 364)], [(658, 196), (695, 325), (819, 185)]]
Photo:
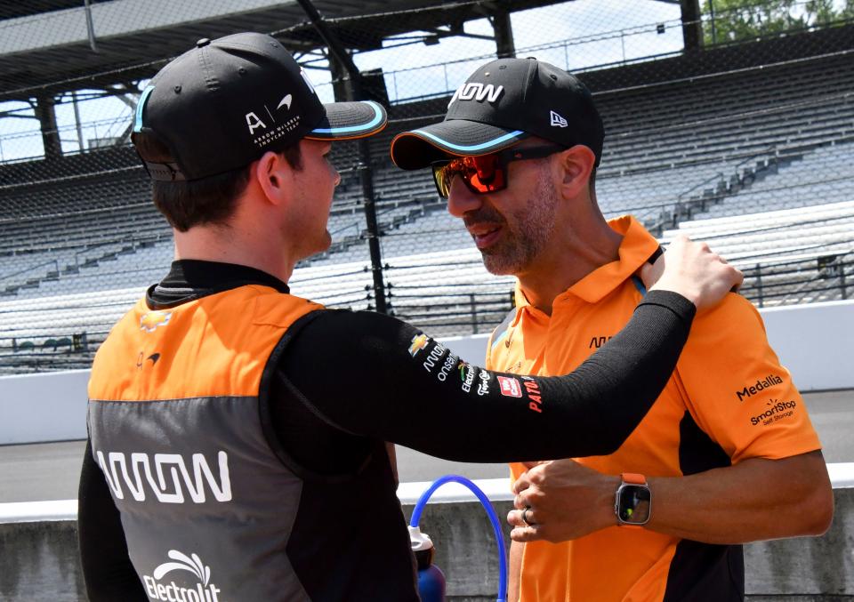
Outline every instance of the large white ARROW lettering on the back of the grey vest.
[[(149, 489), (157, 498), (157, 502), (181, 504), (184, 503), (186, 489), (190, 500), (204, 503), (207, 499), (205, 483), (214, 494), (214, 500), (231, 501), (229, 456), (225, 452), (217, 454), (220, 469), (219, 482), (214, 477), (214, 471), (208, 466), (204, 454), (192, 455), (190, 460), (193, 467), (192, 474), (187, 470), (187, 463), (184, 462), (181, 454), (154, 454), (152, 459), (149, 454), (134, 453), (131, 454), (130, 462), (121, 452), (109, 452), (106, 460), (101, 451), (96, 452), (96, 456), (104, 477), (107, 478), (109, 488), (119, 500), (125, 499), (125, 492), (121, 486), (121, 481), (124, 481), (131, 496), (137, 502), (145, 501), (146, 489)], [(119, 475), (121, 475), (121, 481)], [(167, 480), (171, 482), (167, 483)]]

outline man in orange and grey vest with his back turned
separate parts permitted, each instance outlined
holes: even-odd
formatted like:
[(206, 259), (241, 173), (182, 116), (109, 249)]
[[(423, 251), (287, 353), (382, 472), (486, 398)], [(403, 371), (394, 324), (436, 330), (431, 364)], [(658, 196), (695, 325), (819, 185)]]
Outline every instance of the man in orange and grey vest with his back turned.
[(133, 143), (176, 261), (93, 364), (79, 497), (93, 602), (415, 601), (385, 441), (469, 462), (611, 452), (695, 304), (740, 280), (681, 241), (607, 349), (524, 388), (391, 317), (291, 295), (294, 264), (329, 245), (330, 140), (384, 124), (375, 103), (322, 105), (260, 34), (201, 40), (142, 93)]

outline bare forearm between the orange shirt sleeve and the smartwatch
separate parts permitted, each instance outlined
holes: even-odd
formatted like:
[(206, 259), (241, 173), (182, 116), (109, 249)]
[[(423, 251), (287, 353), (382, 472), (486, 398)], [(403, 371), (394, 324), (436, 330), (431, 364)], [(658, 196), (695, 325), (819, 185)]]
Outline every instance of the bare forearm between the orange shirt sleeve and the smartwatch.
[(678, 478), (649, 478), (651, 531), (706, 543), (823, 534), (834, 513), (821, 452)]

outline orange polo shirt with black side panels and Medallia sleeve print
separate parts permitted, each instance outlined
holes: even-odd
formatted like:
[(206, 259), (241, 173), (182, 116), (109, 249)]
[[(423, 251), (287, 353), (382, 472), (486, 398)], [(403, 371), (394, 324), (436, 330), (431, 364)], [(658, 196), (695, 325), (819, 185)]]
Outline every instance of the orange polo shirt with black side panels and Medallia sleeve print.
[[(628, 322), (643, 295), (632, 275), (658, 244), (632, 217), (608, 223), (624, 237), (619, 259), (555, 298), (552, 316), (531, 307), (517, 286), (516, 315), (493, 333), (488, 369), (568, 373)], [(616, 453), (579, 462), (608, 474), (671, 477), (819, 448), (802, 397), (770, 349), (759, 313), (729, 294), (697, 316), (673, 376)], [(511, 469), (514, 479), (525, 470), (521, 464)], [(719, 602), (737, 599), (733, 591), (739, 586), (744, 589), (741, 546), (613, 526), (572, 542), (526, 544), (520, 602)]]

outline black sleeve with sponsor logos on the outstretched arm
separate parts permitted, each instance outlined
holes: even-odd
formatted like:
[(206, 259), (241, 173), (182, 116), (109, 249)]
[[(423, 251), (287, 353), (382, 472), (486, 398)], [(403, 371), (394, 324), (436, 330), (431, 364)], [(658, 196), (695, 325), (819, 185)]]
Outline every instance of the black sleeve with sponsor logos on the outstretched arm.
[[(653, 291), (632, 322), (574, 373), (527, 380), (465, 364), (437, 341), (425, 341), (413, 356), (420, 332), (394, 318), (328, 312), (302, 328), (279, 370), (302, 394), (308, 422), (323, 416), (334, 426), (321, 430), (351, 433), (353, 445), (358, 436), (372, 437), (458, 462), (610, 454), (665, 386), (693, 313), (680, 295)], [(520, 397), (505, 395), (499, 376), (513, 381)], [(286, 425), (304, 410), (278, 406), (288, 414), (280, 416), (276, 407), (284, 440), (299, 437)], [(302, 461), (330, 471), (329, 442), (300, 438), (289, 446)]]

